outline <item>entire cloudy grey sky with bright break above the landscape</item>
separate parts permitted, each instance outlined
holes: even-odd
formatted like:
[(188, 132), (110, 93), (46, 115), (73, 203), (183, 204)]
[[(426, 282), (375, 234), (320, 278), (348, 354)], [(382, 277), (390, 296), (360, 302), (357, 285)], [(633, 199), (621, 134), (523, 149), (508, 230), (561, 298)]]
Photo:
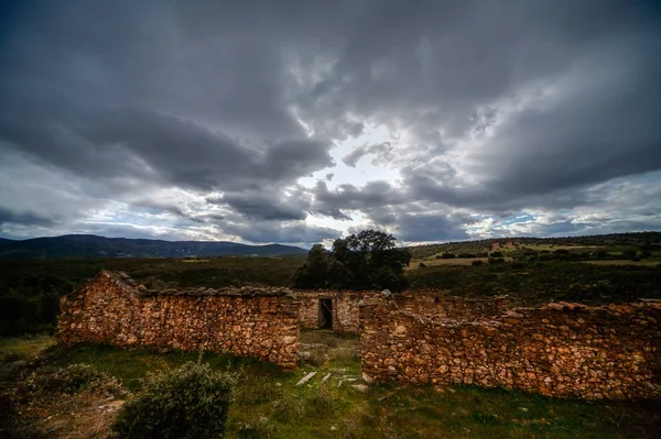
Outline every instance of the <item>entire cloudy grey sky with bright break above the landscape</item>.
[(661, 230), (653, 0), (0, 3), (0, 237)]

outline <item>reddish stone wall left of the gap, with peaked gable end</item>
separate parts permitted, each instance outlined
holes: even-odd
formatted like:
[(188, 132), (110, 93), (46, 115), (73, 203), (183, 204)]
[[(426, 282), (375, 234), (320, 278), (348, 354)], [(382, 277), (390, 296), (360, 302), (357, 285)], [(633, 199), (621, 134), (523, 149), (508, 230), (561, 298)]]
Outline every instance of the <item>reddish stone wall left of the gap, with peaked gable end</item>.
[(296, 367), (299, 303), (279, 289), (154, 292), (101, 272), (61, 301), (59, 343), (204, 349)]

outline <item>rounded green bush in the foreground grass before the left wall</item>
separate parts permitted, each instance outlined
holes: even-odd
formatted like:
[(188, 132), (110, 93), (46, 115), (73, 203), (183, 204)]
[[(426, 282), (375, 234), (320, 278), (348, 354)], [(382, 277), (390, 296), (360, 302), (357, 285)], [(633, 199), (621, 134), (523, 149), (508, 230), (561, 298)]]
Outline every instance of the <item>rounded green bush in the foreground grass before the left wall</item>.
[(188, 362), (148, 374), (142, 389), (118, 413), (112, 429), (122, 438), (221, 438), (235, 380), (208, 364)]

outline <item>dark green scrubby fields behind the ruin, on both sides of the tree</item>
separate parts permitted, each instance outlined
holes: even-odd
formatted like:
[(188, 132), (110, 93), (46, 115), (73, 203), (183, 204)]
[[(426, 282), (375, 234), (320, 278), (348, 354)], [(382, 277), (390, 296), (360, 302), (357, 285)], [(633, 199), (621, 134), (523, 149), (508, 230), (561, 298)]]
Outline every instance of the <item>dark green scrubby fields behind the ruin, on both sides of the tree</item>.
[[(561, 255), (564, 257), (564, 255)], [(483, 261), (473, 266), (476, 260)], [(457, 296), (509, 295), (522, 305), (549, 300), (598, 305), (639, 297), (661, 298), (661, 259), (490, 263), (458, 257), (413, 261), (411, 289), (442, 289)], [(511, 262), (514, 261), (514, 262)], [(149, 287), (290, 287), (303, 256), (182, 259), (0, 260), (0, 337), (54, 330), (59, 298), (100, 270), (126, 271)], [(420, 267), (420, 263), (424, 267)]]

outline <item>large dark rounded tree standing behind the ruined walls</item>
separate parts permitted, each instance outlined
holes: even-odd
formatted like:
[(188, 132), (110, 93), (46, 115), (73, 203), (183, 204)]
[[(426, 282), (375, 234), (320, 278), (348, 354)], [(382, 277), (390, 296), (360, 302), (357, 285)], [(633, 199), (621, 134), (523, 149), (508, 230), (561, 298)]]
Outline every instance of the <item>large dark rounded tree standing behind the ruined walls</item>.
[(296, 271), (294, 288), (405, 289), (411, 254), (394, 241), (391, 234), (364, 230), (335, 240), (330, 251), (316, 244)]

